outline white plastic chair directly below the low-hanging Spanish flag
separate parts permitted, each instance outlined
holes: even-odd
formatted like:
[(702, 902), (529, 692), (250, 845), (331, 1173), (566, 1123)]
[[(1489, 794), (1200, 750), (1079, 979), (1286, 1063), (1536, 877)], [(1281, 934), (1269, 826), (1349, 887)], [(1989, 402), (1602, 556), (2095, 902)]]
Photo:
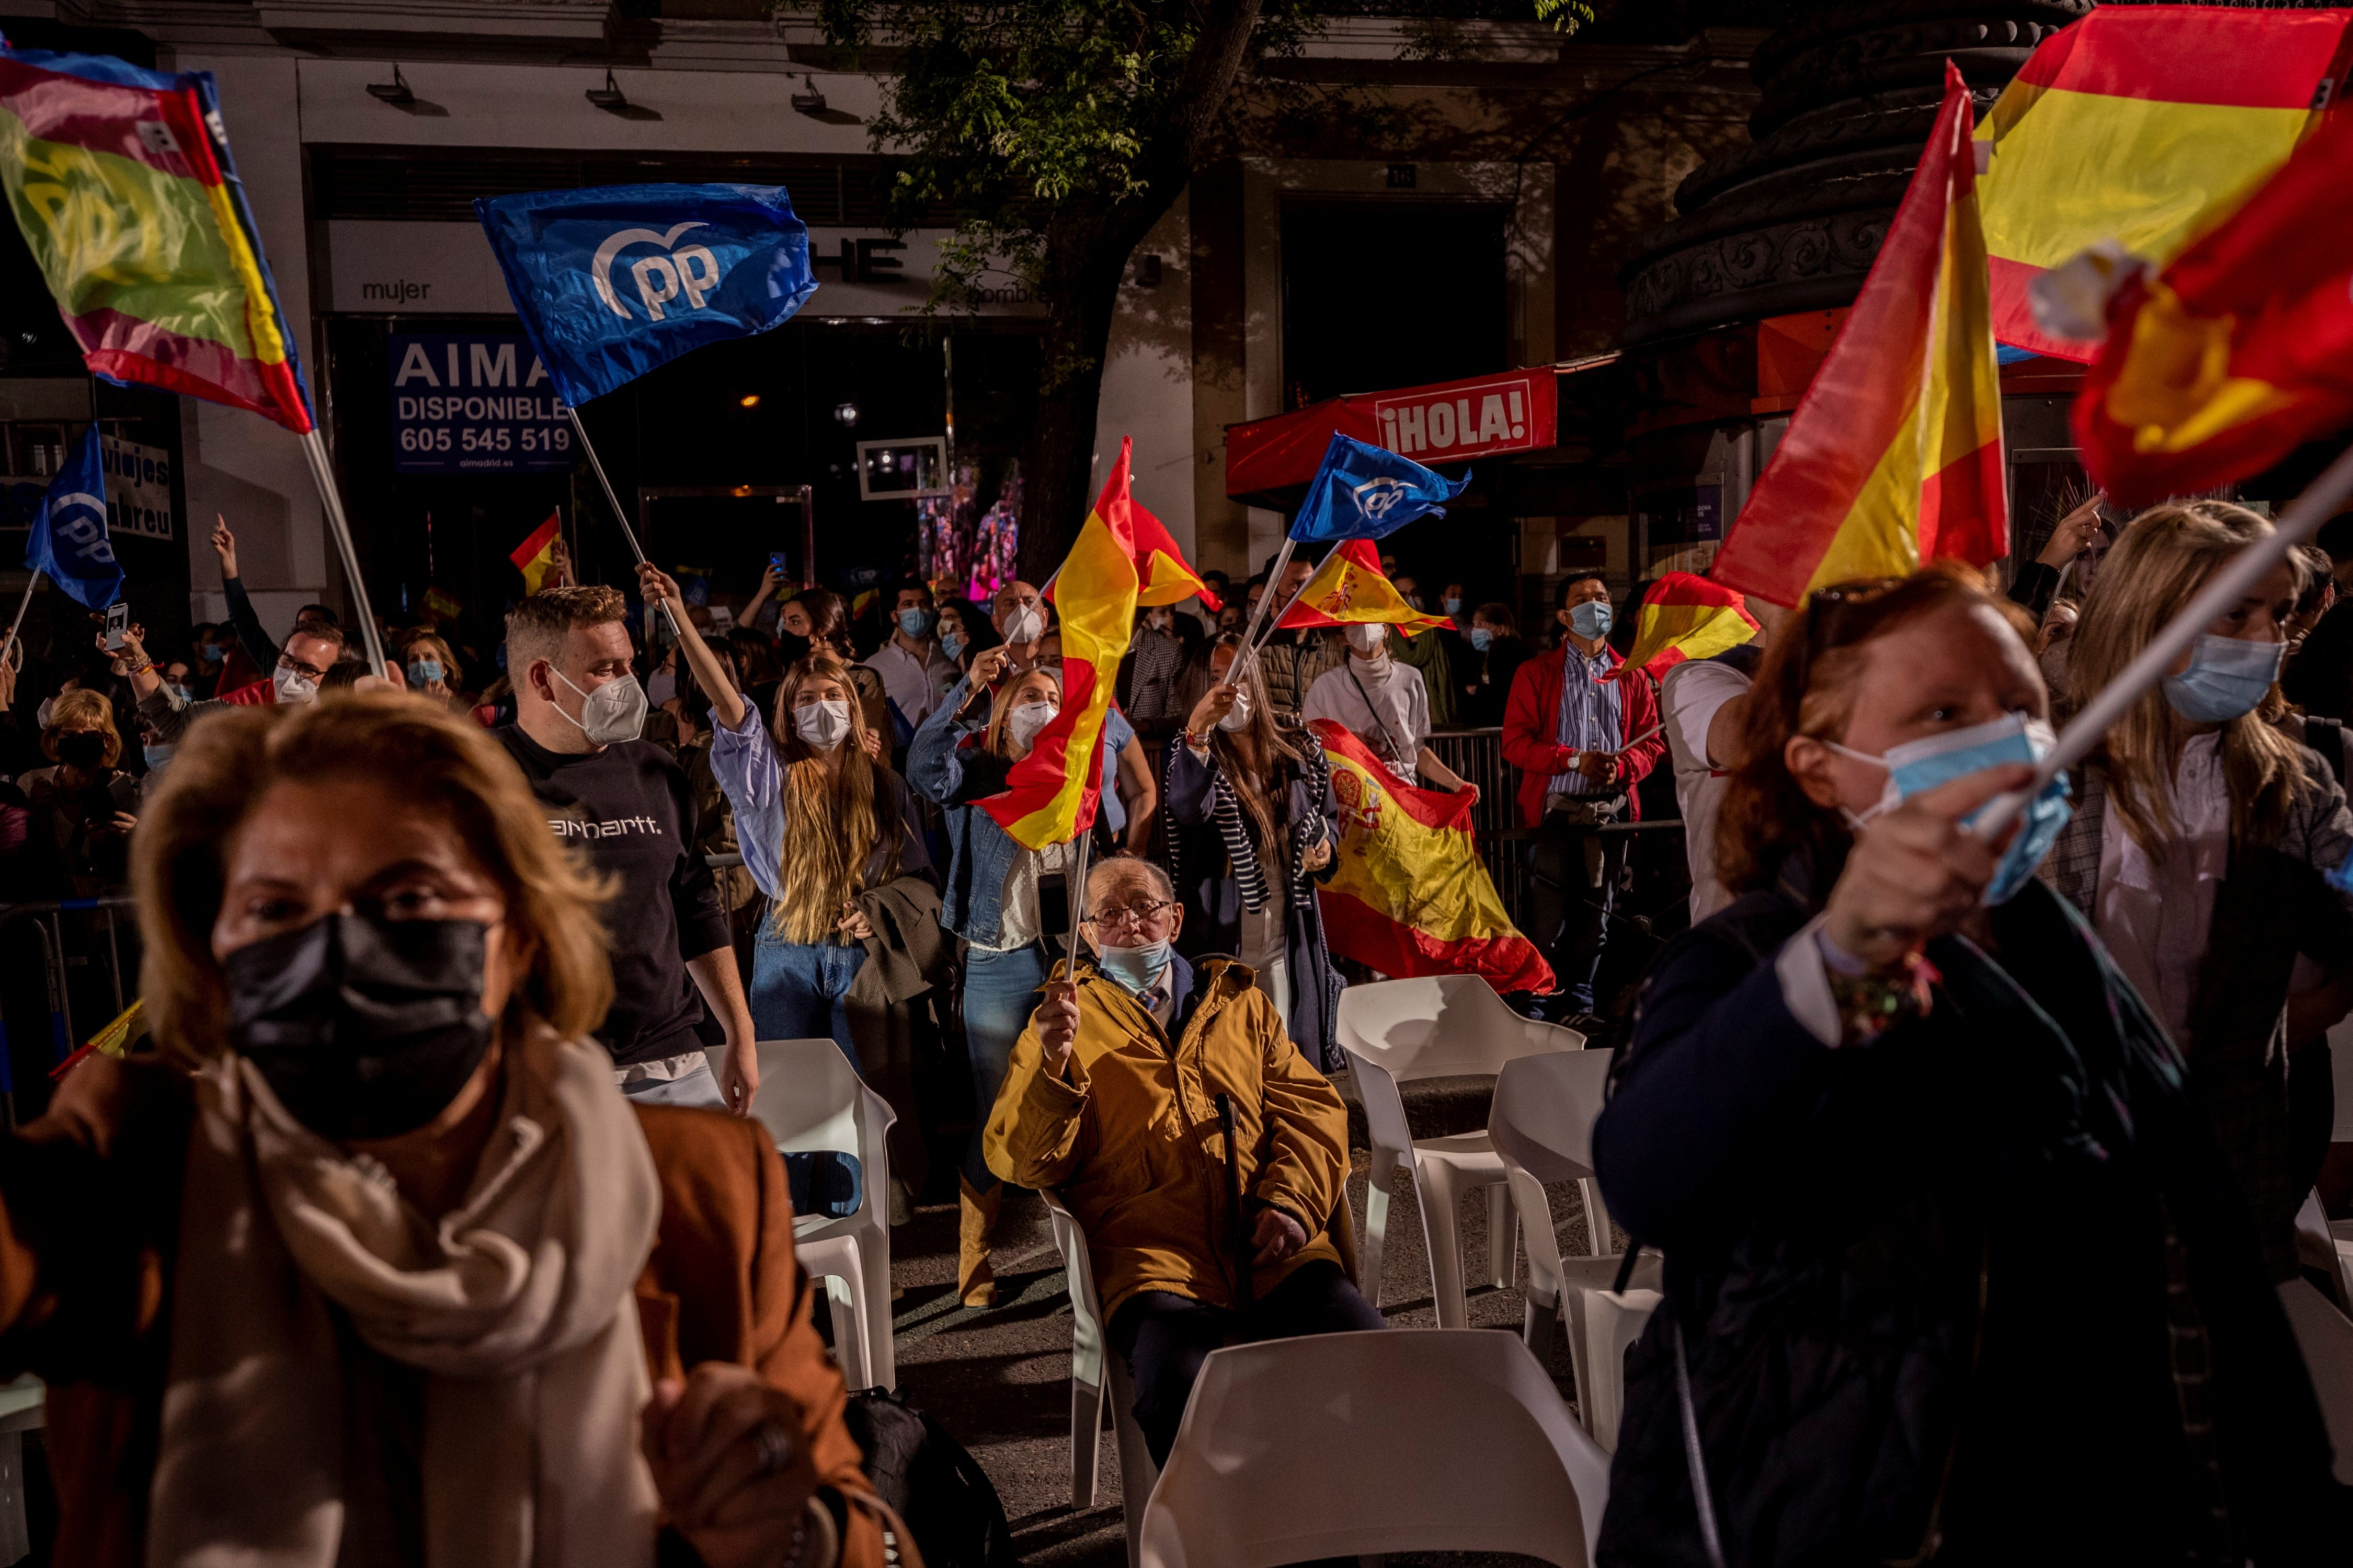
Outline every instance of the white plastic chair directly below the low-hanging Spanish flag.
[(1348, 1052), (1355, 1092), (1372, 1135), (1372, 1175), (1365, 1191), (1365, 1243), (1358, 1274), (1365, 1300), (1381, 1304), (1381, 1248), (1388, 1236), (1388, 1182), (1398, 1165), (1414, 1172), (1421, 1238), (1431, 1250), (1431, 1297), (1440, 1328), (1464, 1328), (1464, 1260), (1457, 1215), (1461, 1196), (1487, 1189), (1487, 1274), (1511, 1285), (1511, 1184), (1485, 1132), (1414, 1137), (1405, 1125), (1400, 1083), (1499, 1074), (1506, 1062), (1553, 1050), (1581, 1050), (1586, 1036), (1539, 1024), (1504, 1005), (1478, 975), (1428, 975), (1348, 986), (1339, 994), (1337, 1034)]

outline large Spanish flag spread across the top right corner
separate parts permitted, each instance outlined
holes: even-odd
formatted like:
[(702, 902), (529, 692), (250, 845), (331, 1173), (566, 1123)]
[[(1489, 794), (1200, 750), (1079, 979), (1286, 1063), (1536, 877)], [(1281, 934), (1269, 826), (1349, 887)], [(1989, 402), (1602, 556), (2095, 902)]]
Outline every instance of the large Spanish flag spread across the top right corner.
[(2026, 287), (2101, 240), (2169, 261), (2275, 172), (2346, 85), (2353, 9), (2101, 5), (2035, 47), (1977, 127), (1993, 334), (2089, 360), (2035, 327)]

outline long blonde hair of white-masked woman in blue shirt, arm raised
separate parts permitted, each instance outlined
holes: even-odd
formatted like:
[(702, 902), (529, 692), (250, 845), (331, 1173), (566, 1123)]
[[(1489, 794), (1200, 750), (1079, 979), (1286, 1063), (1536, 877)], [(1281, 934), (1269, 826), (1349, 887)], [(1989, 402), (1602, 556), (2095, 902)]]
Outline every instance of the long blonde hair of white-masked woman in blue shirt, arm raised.
[[(793, 725), (793, 699), (812, 680), (833, 680), (849, 702), (849, 735), (842, 737), (833, 768)], [(776, 687), (776, 756), (784, 760), (784, 843), (776, 845), (774, 930), (786, 942), (826, 942), (842, 921), (842, 904), (866, 888), (866, 862), (878, 848), (889, 848), (882, 881), (899, 876), (906, 848), (906, 822), (899, 812), (875, 805), (873, 758), (866, 756), (866, 711), (849, 666), (819, 645), (807, 659), (784, 671)]]

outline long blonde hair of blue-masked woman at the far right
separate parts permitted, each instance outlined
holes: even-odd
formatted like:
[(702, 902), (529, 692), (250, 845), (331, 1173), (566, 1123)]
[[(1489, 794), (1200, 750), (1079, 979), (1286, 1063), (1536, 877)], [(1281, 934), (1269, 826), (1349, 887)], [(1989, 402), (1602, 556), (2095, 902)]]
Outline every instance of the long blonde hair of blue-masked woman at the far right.
[[(2268, 532), (2271, 523), (2228, 501), (2153, 506), (2127, 523), (2068, 638), (2075, 699), (2115, 680), (2231, 556)], [(2151, 855), (2174, 836), (2177, 723), (2158, 685), (2125, 709), (2101, 742), (2111, 810)], [(2311, 784), (2294, 742), (2261, 711), (2221, 727), (2221, 770), (2231, 786), (2233, 845), (2273, 843), (2287, 826), (2289, 803)]]

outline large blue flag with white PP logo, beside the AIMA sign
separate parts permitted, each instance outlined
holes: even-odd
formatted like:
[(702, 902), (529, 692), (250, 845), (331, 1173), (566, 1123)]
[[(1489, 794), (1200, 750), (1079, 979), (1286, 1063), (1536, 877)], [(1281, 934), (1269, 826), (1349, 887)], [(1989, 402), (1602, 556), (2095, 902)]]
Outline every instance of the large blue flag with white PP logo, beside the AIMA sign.
[(602, 186), (473, 205), (522, 330), (579, 407), (680, 353), (791, 320), (809, 228), (781, 186)]

